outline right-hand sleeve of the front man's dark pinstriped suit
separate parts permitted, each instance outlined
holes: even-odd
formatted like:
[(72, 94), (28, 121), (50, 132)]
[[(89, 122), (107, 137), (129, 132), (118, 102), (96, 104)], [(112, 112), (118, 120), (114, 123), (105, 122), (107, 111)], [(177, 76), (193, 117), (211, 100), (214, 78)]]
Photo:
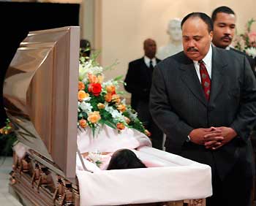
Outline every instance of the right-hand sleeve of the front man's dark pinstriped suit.
[(246, 57), (244, 57), (243, 64), (244, 72), (241, 80), (240, 107), (236, 119), (230, 127), (246, 142), (256, 121), (256, 82)]

